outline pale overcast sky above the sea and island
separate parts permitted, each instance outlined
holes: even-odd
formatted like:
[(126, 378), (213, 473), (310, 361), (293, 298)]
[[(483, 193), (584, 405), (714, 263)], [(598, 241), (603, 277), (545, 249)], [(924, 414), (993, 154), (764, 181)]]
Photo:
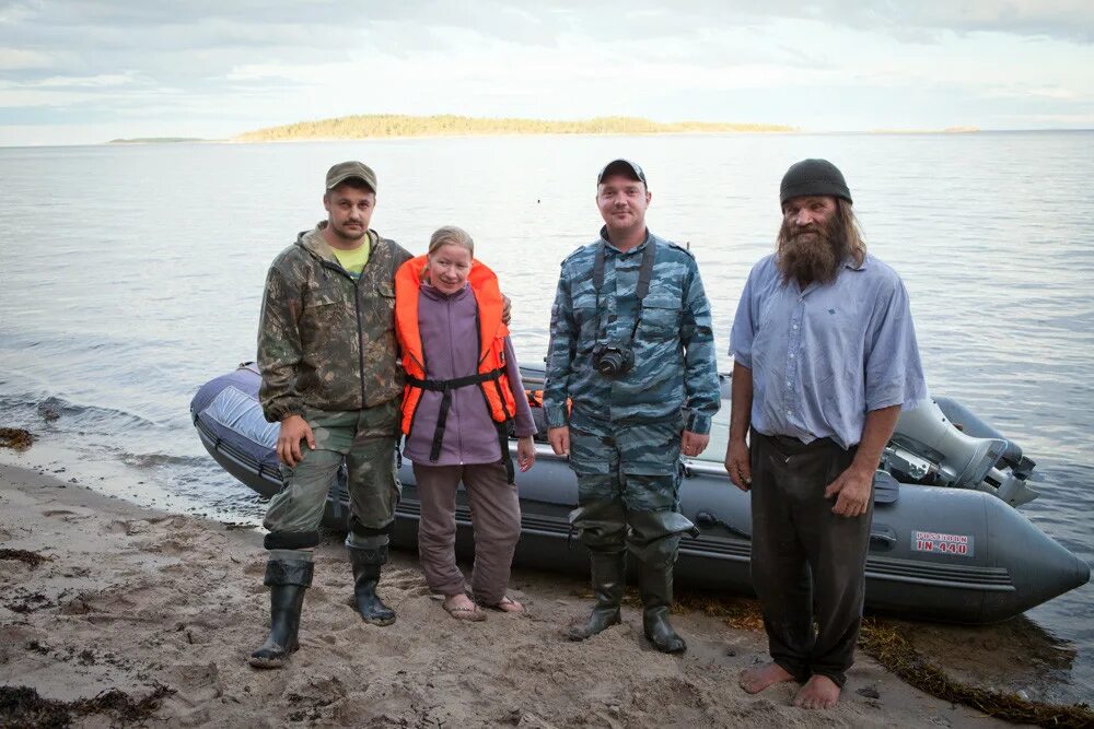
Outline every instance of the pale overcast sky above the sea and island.
[(1094, 128), (1094, 0), (0, 0), (0, 145), (348, 114)]

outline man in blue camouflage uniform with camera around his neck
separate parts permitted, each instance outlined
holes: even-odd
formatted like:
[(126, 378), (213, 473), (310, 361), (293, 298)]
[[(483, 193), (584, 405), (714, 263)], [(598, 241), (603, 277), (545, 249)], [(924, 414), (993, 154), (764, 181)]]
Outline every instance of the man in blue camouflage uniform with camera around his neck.
[(605, 225), (562, 262), (544, 386), (551, 447), (578, 477), (570, 520), (592, 563), (595, 605), (570, 637), (619, 622), (629, 550), (645, 636), (680, 652), (673, 566), (695, 526), (679, 514), (679, 456), (702, 452), (721, 403), (710, 304), (691, 254), (647, 230), (642, 168), (615, 160), (596, 183)]

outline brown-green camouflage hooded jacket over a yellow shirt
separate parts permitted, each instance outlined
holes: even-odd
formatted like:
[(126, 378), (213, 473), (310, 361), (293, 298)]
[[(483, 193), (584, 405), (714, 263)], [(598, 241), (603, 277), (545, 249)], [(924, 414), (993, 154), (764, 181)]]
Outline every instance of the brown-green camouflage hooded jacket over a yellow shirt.
[(403, 395), (395, 343), (395, 271), (411, 258), (369, 231), (372, 250), (353, 281), (319, 223), (274, 259), (258, 324), (259, 399), (271, 423), (304, 407), (360, 410)]

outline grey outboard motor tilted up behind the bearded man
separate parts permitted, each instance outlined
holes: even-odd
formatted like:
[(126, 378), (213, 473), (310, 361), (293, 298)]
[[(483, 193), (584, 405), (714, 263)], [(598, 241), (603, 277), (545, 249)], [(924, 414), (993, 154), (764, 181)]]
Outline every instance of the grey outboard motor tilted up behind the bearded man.
[(1003, 437), (963, 433), (934, 400), (926, 399), (900, 413), (882, 465), (918, 483), (976, 489), (1021, 506), (1039, 494), (1025, 483), (1033, 463), (1016, 469), (1010, 462), (1015, 448)]

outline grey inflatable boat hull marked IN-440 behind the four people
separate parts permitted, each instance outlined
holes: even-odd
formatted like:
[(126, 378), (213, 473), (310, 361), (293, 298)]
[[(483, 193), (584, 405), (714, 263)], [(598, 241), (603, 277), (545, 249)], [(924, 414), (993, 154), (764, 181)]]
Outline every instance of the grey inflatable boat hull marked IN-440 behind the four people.
[[(229, 473), (264, 496), (281, 487), (272, 444), (277, 425), (261, 416), (258, 375), (240, 368), (205, 385), (191, 402), (202, 444)], [(713, 444), (712, 448), (724, 447)], [(515, 444), (514, 444), (515, 450)], [(565, 459), (537, 445), (535, 467), (517, 479), (522, 537), (517, 564), (587, 574), (584, 548), (570, 538), (568, 515), (578, 485)], [(403, 497), (393, 543), (417, 546), (419, 499), (414, 472), (401, 463)], [(324, 524), (346, 528), (345, 479), (331, 484)], [(752, 593), (749, 497), (710, 461), (688, 463), (683, 514), (699, 527), (685, 537), (676, 566), (680, 586)], [(457, 499), (457, 552), (473, 554), (470, 515)], [(1014, 508), (980, 491), (875, 482), (866, 560), (866, 607), (905, 616), (957, 623), (1012, 618), (1090, 579), (1089, 566)]]

